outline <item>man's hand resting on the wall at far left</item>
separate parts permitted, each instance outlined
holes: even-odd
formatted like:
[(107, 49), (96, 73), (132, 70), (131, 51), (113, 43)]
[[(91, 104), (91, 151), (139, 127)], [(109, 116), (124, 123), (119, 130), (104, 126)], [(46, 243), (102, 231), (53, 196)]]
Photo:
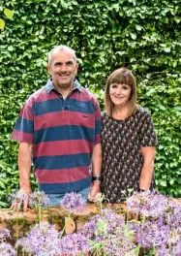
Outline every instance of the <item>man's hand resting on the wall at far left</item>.
[(21, 206), (23, 207), (23, 211), (26, 211), (29, 204), (31, 191), (25, 192), (24, 190), (20, 189), (13, 198), (13, 203), (11, 209), (15, 211), (19, 211)]

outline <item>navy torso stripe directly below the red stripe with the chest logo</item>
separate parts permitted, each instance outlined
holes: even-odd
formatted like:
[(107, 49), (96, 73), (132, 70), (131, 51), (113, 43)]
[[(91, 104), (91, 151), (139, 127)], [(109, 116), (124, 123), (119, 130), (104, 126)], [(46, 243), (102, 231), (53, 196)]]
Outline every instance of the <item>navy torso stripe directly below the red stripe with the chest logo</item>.
[(34, 144), (42, 142), (67, 141), (67, 140), (86, 140), (91, 143), (95, 142), (95, 129), (77, 126), (62, 125), (56, 127), (48, 127), (35, 131)]

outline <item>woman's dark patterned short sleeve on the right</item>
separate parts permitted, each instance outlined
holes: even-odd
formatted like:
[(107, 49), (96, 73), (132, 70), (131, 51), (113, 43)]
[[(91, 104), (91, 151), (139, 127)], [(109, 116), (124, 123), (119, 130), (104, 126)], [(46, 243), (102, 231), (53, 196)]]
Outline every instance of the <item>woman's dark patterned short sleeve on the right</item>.
[(140, 146), (157, 146), (158, 140), (149, 112), (144, 112), (139, 134)]

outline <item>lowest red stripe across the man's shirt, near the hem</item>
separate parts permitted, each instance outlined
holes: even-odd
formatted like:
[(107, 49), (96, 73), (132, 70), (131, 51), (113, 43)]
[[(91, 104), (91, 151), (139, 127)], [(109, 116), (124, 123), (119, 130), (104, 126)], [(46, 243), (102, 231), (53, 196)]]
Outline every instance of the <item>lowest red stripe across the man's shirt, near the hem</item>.
[(84, 166), (69, 170), (35, 170), (35, 176), (37, 176), (39, 183), (65, 183), (75, 182), (89, 177), (91, 174), (89, 173), (89, 166)]

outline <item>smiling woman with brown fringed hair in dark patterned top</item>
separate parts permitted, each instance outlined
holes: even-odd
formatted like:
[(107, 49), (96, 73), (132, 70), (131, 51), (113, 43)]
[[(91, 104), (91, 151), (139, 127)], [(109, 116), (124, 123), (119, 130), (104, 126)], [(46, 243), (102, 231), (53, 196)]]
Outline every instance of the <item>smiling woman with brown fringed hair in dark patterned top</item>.
[(152, 190), (157, 138), (149, 112), (136, 105), (136, 80), (126, 68), (106, 82), (106, 112), (102, 113), (102, 192), (110, 203), (131, 191)]

